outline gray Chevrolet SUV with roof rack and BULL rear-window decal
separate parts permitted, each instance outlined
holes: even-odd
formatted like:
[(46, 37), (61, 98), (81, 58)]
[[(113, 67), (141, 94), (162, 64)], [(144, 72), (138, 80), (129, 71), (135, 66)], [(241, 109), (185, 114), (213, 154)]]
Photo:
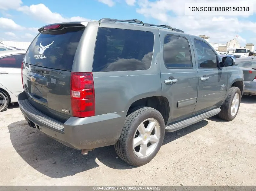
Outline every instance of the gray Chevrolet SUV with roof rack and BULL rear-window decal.
[(115, 145), (141, 166), (165, 131), (238, 113), (243, 72), (200, 37), (136, 19), (38, 31), (23, 59), (19, 107), (29, 126), (82, 154)]

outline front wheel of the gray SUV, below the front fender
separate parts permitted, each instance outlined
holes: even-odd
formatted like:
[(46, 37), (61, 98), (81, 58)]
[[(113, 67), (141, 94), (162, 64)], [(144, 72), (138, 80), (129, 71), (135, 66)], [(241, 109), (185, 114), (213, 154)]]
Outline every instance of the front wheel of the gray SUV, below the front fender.
[[(237, 109), (233, 110), (232, 108), (234, 108), (234, 107), (232, 107), (232, 103), (234, 104), (234, 102), (236, 102), (234, 100), (234, 98), (237, 95), (239, 96), (238, 103), (235, 104), (235, 106), (237, 106), (235, 108), (237, 108)], [(218, 114), (218, 117), (220, 117), (221, 119), (224, 119), (226, 121), (232, 121), (238, 113), (238, 110), (240, 107), (240, 102), (241, 102), (240, 89), (237, 87), (231, 87), (228, 92), (228, 97), (226, 98), (225, 102), (221, 106), (221, 112)]]

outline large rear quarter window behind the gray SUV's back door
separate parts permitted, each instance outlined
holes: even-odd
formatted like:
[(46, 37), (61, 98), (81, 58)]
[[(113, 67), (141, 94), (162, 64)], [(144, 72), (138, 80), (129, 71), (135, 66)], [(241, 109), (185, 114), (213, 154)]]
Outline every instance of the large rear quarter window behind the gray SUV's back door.
[(93, 72), (147, 70), (151, 66), (153, 47), (151, 32), (99, 28)]

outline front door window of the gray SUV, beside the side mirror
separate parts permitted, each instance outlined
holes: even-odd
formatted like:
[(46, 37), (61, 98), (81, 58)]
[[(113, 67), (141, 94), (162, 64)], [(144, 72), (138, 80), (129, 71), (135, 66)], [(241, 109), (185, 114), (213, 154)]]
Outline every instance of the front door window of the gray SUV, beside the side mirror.
[(217, 56), (214, 51), (201, 40), (194, 40), (198, 67), (217, 67)]

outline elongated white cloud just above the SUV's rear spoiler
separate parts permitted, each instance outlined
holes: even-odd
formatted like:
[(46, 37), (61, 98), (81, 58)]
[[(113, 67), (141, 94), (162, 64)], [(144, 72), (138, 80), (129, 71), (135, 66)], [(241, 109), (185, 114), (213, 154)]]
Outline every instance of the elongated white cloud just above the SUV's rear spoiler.
[(59, 13), (52, 12), (48, 7), (46, 7), (42, 3), (38, 5), (30, 5), (29, 7), (22, 6), (18, 8), (18, 11), (22, 11), (25, 14), (31, 15), (33, 18), (43, 21), (47, 24), (68, 21), (88, 21), (88, 19), (78, 16), (65, 18)]

